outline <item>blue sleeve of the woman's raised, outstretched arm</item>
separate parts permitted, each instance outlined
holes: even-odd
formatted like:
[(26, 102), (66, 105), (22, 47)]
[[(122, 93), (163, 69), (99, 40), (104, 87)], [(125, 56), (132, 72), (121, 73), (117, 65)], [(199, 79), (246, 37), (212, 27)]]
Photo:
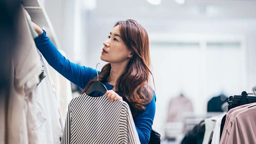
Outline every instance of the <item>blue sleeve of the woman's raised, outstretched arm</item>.
[(80, 66), (67, 60), (52, 44), (45, 31), (35, 38), (35, 44), (50, 66), (82, 89), (97, 76), (96, 69)]

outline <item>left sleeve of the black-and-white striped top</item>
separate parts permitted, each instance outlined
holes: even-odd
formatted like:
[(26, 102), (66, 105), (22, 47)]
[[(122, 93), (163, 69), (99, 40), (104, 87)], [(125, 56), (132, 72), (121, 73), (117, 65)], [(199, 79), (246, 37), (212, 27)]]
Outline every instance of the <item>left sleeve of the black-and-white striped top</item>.
[(71, 106), (70, 106), (70, 102), (69, 102), (65, 127), (64, 127), (63, 136), (61, 139), (61, 144), (70, 144), (70, 137), (71, 137), (71, 129), (70, 128), (71, 128)]

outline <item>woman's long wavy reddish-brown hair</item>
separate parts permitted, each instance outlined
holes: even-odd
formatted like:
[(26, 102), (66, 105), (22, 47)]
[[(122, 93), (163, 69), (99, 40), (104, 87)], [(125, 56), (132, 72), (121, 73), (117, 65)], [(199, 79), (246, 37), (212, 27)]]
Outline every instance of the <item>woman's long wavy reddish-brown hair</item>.
[[(125, 97), (131, 103), (131, 106), (134, 108), (133, 115), (136, 115), (138, 111), (145, 110), (144, 106), (153, 98), (153, 89), (149, 86), (149, 76), (152, 73), (149, 69), (148, 34), (137, 21), (132, 19), (118, 21), (114, 27), (118, 25), (123, 42), (132, 51), (132, 58), (124, 73), (116, 81), (116, 88), (119, 95)], [(103, 66), (99, 74), (99, 81), (109, 81), (110, 70), (110, 63)], [(89, 81), (83, 93), (95, 81), (97, 81), (97, 77)]]

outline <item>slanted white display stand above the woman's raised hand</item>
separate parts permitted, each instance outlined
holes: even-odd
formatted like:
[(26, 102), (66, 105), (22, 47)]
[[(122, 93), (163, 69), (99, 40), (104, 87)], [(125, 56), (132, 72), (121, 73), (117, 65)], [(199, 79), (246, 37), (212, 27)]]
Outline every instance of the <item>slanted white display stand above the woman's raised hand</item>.
[(40, 28), (47, 31), (47, 36), (50, 38), (51, 42), (58, 48), (61, 49), (60, 43), (54, 32), (51, 21), (44, 9), (42, 4), (38, 0), (22, 0), (24, 8), (29, 13), (31, 20), (36, 23)]

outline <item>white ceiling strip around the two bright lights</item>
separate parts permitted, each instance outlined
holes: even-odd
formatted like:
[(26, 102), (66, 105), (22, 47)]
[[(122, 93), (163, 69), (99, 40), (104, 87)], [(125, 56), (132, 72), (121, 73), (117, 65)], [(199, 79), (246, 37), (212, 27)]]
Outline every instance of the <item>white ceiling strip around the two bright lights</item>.
[(256, 18), (256, 0), (162, 0), (160, 5), (146, 0), (97, 0), (92, 16), (140, 18)]

